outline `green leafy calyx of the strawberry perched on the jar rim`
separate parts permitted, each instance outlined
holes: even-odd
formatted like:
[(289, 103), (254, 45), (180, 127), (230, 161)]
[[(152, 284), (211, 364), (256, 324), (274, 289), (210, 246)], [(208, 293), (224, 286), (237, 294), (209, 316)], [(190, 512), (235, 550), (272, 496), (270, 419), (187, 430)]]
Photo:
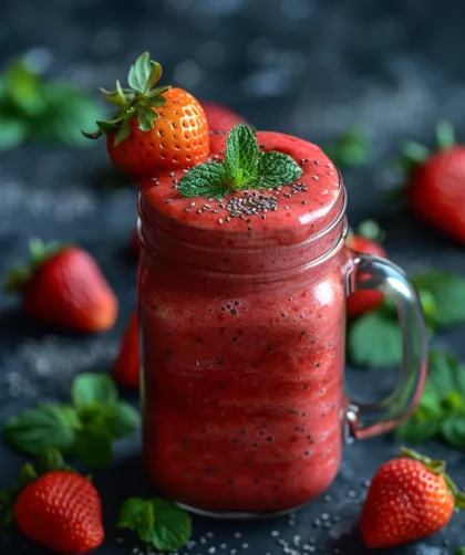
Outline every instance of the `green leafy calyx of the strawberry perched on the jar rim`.
[(116, 81), (114, 91), (100, 90), (103, 97), (117, 107), (117, 113), (107, 122), (96, 122), (95, 133), (82, 133), (92, 139), (114, 134), (114, 145), (117, 146), (131, 135), (130, 121), (133, 117), (137, 117), (141, 130), (149, 132), (158, 118), (153, 108), (161, 108), (165, 104), (166, 97), (163, 93), (172, 87), (165, 85), (154, 88), (161, 76), (162, 66), (151, 60), (148, 52), (141, 54), (130, 69), (128, 88), (123, 88), (120, 81)]

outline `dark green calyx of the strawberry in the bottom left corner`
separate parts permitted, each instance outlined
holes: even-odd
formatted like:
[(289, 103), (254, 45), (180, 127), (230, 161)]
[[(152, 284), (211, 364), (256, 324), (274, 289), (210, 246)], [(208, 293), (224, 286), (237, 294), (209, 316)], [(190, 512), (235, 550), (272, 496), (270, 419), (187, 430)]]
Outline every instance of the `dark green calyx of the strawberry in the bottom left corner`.
[(14, 503), (22, 490), (34, 483), (39, 477), (56, 471), (76, 472), (65, 464), (56, 449), (44, 449), (37, 458), (37, 468), (30, 463), (23, 464), (17, 482), (0, 492), (0, 525), (3, 528), (14, 530)]

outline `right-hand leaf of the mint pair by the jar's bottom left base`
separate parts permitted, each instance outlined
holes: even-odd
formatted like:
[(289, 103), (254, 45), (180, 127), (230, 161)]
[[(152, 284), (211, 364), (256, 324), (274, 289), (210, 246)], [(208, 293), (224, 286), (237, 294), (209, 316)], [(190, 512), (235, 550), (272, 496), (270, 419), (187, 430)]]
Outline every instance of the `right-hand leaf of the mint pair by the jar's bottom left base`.
[(183, 547), (190, 538), (190, 516), (169, 501), (155, 498), (151, 502), (155, 514), (153, 532), (153, 545), (155, 548), (174, 551)]

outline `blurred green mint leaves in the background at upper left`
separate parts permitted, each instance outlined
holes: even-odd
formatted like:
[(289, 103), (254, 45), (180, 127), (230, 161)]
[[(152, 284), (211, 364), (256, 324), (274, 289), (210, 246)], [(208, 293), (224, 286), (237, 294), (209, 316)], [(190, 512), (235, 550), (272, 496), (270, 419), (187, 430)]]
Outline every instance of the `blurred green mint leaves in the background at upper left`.
[(81, 128), (101, 119), (101, 108), (83, 91), (44, 80), (25, 59), (4, 67), (0, 78), (0, 151), (29, 138), (84, 146)]

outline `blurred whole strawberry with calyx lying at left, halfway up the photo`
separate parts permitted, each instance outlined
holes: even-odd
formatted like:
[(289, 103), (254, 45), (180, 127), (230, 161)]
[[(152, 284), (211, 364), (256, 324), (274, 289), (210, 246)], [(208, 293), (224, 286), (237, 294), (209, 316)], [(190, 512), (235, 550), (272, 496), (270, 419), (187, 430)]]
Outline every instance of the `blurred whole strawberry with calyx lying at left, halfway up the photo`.
[(28, 316), (79, 332), (105, 332), (113, 327), (117, 299), (95, 260), (78, 247), (41, 241), (30, 243), (29, 266), (13, 269), (7, 279), (19, 290)]

